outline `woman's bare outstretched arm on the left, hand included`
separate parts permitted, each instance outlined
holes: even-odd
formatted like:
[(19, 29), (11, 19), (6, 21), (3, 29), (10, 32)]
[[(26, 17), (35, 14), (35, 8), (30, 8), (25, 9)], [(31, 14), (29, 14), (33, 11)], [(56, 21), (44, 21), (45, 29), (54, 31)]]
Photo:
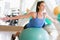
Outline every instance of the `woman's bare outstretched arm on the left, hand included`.
[(4, 18), (0, 18), (0, 19), (2, 19), (2, 20), (15, 20), (15, 19), (29, 18), (30, 16), (33, 16), (33, 12), (30, 12), (26, 15), (18, 15), (15, 17), (4, 17)]

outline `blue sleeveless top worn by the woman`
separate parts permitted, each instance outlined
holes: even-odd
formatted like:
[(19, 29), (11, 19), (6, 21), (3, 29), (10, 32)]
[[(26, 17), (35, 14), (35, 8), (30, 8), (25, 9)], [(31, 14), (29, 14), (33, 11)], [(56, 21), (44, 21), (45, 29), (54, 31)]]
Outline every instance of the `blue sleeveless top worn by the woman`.
[(42, 28), (43, 24), (45, 23), (45, 18), (42, 19), (38, 18), (38, 13), (36, 18), (30, 19), (29, 23), (27, 24), (27, 28)]

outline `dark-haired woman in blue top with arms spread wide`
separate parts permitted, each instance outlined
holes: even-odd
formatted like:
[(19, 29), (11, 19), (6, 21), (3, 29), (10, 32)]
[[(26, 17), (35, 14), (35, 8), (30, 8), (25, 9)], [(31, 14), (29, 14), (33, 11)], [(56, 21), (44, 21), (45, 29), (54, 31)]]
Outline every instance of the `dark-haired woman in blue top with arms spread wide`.
[(31, 27), (33, 27), (33, 28), (43, 28), (44, 25), (45, 25), (45, 18), (49, 18), (52, 22), (56, 23), (57, 22), (56, 20), (53, 20), (46, 13), (43, 13), (44, 9), (45, 9), (44, 1), (39, 1), (39, 2), (37, 2), (36, 12), (30, 12), (26, 15), (19, 15), (19, 16), (10, 17), (10, 18), (5, 17), (5, 18), (1, 18), (1, 19), (2, 20), (15, 20), (15, 19), (32, 17), (30, 22), (24, 28), (31, 28)]

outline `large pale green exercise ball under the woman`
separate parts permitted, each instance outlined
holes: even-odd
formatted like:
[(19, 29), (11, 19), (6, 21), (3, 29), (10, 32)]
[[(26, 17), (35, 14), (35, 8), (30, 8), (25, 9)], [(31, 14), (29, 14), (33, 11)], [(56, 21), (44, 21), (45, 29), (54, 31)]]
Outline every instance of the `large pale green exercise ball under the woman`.
[(42, 28), (27, 28), (19, 35), (19, 40), (49, 40), (49, 35)]

